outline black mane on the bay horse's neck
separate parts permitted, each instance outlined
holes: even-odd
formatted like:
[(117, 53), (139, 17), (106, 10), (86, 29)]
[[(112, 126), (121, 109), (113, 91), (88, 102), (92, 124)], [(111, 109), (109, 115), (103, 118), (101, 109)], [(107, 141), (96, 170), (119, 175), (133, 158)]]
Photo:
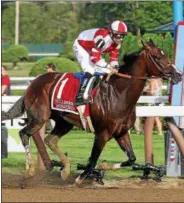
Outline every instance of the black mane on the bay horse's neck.
[(119, 72), (129, 72), (129, 70), (132, 67), (132, 64), (135, 62), (135, 60), (139, 57), (140, 52), (142, 49), (140, 49), (137, 52), (131, 53), (131, 54), (125, 54), (123, 56), (123, 64), (119, 66)]

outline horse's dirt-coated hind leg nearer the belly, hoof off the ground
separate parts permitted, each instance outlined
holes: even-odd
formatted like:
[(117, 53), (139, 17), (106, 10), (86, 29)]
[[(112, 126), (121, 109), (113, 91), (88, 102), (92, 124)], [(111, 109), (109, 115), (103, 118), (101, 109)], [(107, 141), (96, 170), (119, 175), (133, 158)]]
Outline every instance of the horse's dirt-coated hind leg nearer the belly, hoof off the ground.
[(73, 124), (68, 123), (63, 119), (56, 120), (55, 127), (51, 134), (45, 138), (45, 144), (59, 157), (61, 163), (64, 165), (61, 171), (61, 177), (66, 180), (70, 175), (70, 162), (62, 150), (58, 148), (58, 140), (67, 134), (73, 128)]

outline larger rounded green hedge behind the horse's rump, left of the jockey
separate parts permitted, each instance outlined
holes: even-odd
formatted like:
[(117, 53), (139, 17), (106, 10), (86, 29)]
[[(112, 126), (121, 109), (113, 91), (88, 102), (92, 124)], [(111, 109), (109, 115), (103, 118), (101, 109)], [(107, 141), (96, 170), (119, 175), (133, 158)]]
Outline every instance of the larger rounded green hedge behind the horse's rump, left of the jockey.
[(46, 73), (46, 65), (48, 63), (54, 63), (56, 66), (56, 71), (58, 72), (80, 72), (81, 70), (77, 62), (73, 62), (67, 58), (48, 57), (37, 61), (32, 67), (29, 76), (38, 76)]

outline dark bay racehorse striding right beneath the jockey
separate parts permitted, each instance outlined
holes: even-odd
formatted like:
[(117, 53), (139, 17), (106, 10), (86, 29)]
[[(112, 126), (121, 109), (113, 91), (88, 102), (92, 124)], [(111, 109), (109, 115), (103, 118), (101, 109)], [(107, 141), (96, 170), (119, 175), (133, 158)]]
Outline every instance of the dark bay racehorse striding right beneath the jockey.
[[(151, 77), (170, 79), (172, 84), (181, 81), (181, 72), (170, 62), (169, 58), (152, 40), (143, 42), (142, 49), (124, 57), (124, 64), (119, 72), (111, 75), (108, 82), (103, 79), (96, 87), (93, 103), (89, 105), (94, 126), (94, 143), (88, 164), (84, 172), (76, 179), (78, 184), (94, 170), (105, 144), (114, 138), (128, 156), (121, 162), (121, 167), (131, 166), (135, 160), (128, 130), (135, 122), (135, 108), (146, 80)], [(44, 74), (37, 77), (15, 105), (2, 113), (2, 120), (20, 117), (27, 113), (27, 125), (20, 130), (20, 138), (26, 149), (29, 170), (33, 167), (29, 148), (29, 137), (38, 132), (48, 119), (55, 121), (51, 134), (45, 138), (48, 147), (58, 155), (64, 165), (63, 179), (70, 173), (70, 163), (61, 149), (58, 140), (66, 135), (74, 125), (83, 128), (79, 115), (51, 109), (53, 88), (64, 73)]]

